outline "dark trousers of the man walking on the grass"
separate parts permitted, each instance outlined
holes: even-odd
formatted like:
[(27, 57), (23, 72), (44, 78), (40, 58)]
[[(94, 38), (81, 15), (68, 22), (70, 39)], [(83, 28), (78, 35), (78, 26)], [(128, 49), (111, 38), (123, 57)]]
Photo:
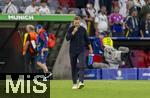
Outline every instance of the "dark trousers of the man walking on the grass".
[[(77, 60), (79, 62), (77, 62)], [(81, 53), (70, 53), (71, 71), (73, 84), (77, 84), (77, 79), (79, 76), (79, 81), (84, 82), (84, 65), (85, 65), (85, 52)]]

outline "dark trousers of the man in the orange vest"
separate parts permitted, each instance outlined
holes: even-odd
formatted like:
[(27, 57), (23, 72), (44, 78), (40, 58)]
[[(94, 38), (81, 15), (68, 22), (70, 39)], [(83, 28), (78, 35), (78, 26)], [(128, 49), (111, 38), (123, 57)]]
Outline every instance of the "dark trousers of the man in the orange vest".
[(32, 56), (29, 52), (25, 55), (25, 72), (36, 73), (36, 56)]

